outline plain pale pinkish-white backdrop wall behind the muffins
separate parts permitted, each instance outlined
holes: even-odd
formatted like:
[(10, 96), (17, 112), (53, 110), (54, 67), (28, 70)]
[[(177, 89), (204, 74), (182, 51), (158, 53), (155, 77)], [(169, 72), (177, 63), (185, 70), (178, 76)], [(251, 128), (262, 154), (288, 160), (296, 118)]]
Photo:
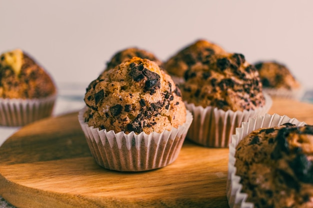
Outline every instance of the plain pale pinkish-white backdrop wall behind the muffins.
[(253, 63), (286, 64), (313, 88), (312, 0), (0, 0), (0, 52), (19, 47), (57, 84), (89, 83), (117, 50), (165, 60), (198, 38)]

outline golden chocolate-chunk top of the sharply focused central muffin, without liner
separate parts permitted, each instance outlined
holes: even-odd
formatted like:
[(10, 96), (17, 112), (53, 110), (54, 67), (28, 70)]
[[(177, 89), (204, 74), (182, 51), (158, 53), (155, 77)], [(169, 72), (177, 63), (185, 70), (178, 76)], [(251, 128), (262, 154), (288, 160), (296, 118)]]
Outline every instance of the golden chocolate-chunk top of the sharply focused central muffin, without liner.
[(178, 128), (185, 122), (181, 93), (169, 75), (148, 59), (133, 57), (105, 70), (86, 89), (88, 126), (136, 134)]

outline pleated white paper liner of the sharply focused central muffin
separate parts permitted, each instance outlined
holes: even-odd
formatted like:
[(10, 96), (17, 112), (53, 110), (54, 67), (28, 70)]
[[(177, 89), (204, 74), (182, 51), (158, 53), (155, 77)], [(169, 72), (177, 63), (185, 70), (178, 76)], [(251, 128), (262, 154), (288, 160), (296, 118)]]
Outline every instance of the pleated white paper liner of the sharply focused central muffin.
[(171, 131), (138, 135), (114, 133), (88, 127), (83, 118), (86, 109), (79, 111), (78, 120), (91, 154), (98, 165), (115, 171), (147, 171), (174, 162), (192, 122), (192, 115), (187, 111), (186, 122)]

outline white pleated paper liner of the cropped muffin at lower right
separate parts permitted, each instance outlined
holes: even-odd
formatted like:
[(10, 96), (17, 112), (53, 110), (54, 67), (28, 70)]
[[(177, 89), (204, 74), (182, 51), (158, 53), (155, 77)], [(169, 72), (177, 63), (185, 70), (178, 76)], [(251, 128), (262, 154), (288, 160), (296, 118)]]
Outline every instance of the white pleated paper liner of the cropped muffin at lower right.
[(236, 168), (234, 166), (236, 146), (245, 136), (256, 129), (279, 126), (284, 123), (292, 123), (296, 126), (303, 126), (306, 124), (304, 122), (299, 122), (295, 118), (290, 119), (285, 115), (265, 114), (264, 116), (258, 115), (256, 118), (249, 118), (248, 122), (242, 122), (241, 127), (236, 128), (236, 133), (231, 136), (231, 143), (229, 144), (226, 196), (230, 208), (254, 208), (253, 203), (246, 202), (247, 194), (241, 193), (242, 185), (239, 183), (241, 178), (236, 176)]

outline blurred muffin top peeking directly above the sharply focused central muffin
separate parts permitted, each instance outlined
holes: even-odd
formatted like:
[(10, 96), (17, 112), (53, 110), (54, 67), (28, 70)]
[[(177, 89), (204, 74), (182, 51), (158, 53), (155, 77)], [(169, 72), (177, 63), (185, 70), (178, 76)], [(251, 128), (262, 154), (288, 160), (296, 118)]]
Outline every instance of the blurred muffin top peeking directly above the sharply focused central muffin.
[(131, 47), (124, 50), (116, 52), (113, 57), (106, 63), (106, 69), (114, 68), (121, 62), (130, 59), (132, 57), (146, 58), (150, 61), (154, 61), (157, 65), (162, 66), (162, 61), (160, 61), (153, 53), (146, 51), (144, 49)]

